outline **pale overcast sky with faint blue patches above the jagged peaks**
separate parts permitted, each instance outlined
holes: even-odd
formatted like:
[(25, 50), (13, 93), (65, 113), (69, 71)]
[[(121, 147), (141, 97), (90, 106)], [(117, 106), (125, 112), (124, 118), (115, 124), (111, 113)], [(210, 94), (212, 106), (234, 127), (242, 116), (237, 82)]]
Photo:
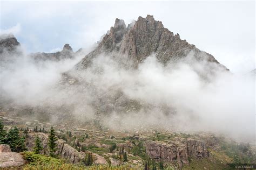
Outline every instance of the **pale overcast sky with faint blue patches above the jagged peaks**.
[(234, 73), (255, 68), (255, 2), (1, 1), (1, 32), (12, 32), (28, 52), (53, 52), (69, 43), (89, 47), (116, 18), (126, 25), (153, 15), (170, 31), (212, 54)]

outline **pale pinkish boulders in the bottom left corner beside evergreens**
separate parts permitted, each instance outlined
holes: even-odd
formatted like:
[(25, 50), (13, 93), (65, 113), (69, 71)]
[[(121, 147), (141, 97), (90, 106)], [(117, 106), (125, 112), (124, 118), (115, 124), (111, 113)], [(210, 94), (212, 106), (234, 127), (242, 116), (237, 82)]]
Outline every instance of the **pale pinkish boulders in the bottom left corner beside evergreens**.
[(0, 168), (19, 167), (24, 164), (21, 154), (11, 152), (9, 145), (0, 145)]

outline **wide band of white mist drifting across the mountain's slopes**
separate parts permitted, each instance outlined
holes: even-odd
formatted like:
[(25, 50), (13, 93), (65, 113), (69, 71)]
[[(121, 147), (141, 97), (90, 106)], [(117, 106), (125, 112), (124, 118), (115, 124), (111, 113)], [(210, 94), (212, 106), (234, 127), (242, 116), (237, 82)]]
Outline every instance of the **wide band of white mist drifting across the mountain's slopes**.
[(255, 75), (232, 74), (193, 55), (163, 66), (152, 54), (131, 69), (122, 56), (100, 54), (89, 68), (75, 70), (83, 56), (38, 63), (23, 53), (1, 65), (2, 101), (51, 109), (53, 119), (101, 115), (100, 123), (116, 130), (210, 131), (254, 140)]

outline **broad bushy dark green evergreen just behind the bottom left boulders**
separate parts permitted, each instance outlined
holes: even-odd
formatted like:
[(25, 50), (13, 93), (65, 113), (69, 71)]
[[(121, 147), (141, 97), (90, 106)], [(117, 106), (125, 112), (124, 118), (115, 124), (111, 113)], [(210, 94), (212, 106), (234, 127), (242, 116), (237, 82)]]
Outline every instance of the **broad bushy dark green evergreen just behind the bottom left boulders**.
[(19, 137), (19, 130), (16, 126), (7, 133), (6, 144), (11, 147), (12, 152), (22, 152), (26, 150), (25, 139)]

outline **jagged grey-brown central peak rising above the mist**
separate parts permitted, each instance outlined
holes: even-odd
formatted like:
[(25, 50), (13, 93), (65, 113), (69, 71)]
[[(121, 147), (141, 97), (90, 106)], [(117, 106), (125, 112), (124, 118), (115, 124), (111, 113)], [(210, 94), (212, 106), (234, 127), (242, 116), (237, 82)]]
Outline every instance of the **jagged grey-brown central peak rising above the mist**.
[[(196, 60), (220, 65), (211, 54), (200, 51), (186, 40), (181, 40), (178, 33), (174, 35), (161, 22), (154, 20), (153, 16), (139, 17), (127, 27), (124, 20), (116, 19), (114, 26), (105, 34), (95, 51), (86, 55), (77, 66), (88, 67), (91, 60), (100, 53), (113, 57), (122, 56), (123, 60), (126, 60), (123, 62), (130, 62), (133, 67), (137, 67), (147, 56), (155, 54), (158, 61), (166, 65), (170, 61), (184, 58), (191, 51)], [(225, 66), (222, 67), (226, 69)]]

